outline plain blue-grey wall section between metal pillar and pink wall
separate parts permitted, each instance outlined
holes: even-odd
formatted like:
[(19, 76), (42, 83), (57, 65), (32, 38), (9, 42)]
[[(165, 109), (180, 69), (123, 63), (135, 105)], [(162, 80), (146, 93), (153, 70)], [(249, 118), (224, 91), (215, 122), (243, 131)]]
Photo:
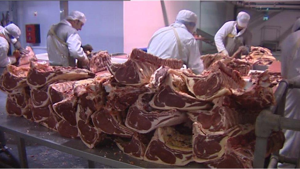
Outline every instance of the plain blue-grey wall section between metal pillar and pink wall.
[(69, 1), (69, 12), (79, 10), (86, 23), (79, 31), (82, 44), (94, 51), (123, 52), (123, 1)]

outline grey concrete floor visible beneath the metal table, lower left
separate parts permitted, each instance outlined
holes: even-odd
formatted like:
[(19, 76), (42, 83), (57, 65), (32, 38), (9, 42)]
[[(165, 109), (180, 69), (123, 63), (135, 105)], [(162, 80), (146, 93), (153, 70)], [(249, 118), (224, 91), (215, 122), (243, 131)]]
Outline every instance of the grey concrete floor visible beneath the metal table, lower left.
[[(18, 159), (18, 147), (15, 137), (9, 133), (5, 133), (5, 137), (8, 151)], [(31, 141), (26, 140), (25, 142), (29, 168), (88, 168), (86, 159), (41, 146)], [(2, 158), (0, 158), (0, 161), (6, 163), (7, 161), (3, 156), (5, 154), (1, 153)], [(0, 164), (0, 167), (5, 168), (7, 166), (1, 166)], [(100, 163), (95, 163), (95, 167), (112, 168)]]

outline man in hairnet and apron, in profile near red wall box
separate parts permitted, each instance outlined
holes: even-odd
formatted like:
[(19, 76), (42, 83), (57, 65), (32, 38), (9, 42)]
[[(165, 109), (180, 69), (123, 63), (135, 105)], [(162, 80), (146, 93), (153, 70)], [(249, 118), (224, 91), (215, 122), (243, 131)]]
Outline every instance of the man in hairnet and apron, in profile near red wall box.
[[(86, 18), (82, 12), (73, 11), (61, 22), (51, 26), (47, 35), (47, 52), (50, 65), (75, 67), (75, 59), (82, 65), (89, 63), (77, 32), (81, 30), (85, 22)], [(86, 50), (90, 48), (85, 46)]]

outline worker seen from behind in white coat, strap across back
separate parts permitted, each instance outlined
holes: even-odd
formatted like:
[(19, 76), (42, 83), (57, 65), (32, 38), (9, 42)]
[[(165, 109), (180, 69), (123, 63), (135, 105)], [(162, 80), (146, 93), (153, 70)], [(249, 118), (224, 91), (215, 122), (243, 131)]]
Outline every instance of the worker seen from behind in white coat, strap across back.
[(164, 59), (181, 59), (195, 74), (200, 74), (204, 66), (196, 39), (192, 35), (196, 21), (195, 13), (181, 10), (173, 24), (152, 35), (147, 52)]

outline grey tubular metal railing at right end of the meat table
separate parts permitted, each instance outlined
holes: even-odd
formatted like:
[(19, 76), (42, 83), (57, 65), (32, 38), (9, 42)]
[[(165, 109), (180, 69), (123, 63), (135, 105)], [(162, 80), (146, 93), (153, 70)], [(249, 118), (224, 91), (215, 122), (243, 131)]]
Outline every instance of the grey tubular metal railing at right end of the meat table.
[[(267, 141), (272, 131), (279, 131), (280, 129), (300, 131), (300, 120), (284, 117), (286, 93), (288, 89), (292, 88), (300, 88), (300, 75), (280, 81), (274, 94), (276, 105), (261, 111), (256, 119), (253, 168), (264, 167)], [(268, 168), (277, 168), (278, 162), (296, 164), (298, 168), (300, 167), (299, 159), (279, 155), (279, 151), (277, 151), (272, 153)]]

